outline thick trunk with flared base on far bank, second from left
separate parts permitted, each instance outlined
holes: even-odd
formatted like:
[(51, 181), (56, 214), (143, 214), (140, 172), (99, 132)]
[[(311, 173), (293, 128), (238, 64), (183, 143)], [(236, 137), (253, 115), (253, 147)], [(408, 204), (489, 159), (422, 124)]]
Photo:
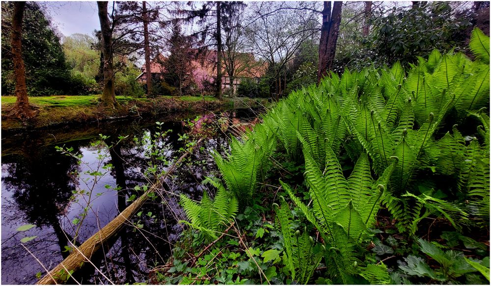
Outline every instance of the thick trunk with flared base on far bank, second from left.
[(104, 54), (104, 88), (101, 102), (103, 105), (114, 108), (118, 105), (114, 95), (114, 67), (112, 64), (112, 30), (108, 17), (108, 2), (98, 1), (99, 21), (101, 22), (101, 42)]

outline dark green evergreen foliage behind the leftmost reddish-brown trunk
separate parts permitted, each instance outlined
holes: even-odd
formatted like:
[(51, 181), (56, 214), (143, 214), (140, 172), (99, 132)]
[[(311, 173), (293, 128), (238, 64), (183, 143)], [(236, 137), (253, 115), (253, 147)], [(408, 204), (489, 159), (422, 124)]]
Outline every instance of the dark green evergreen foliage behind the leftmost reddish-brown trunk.
[[(10, 52), (12, 2), (2, 2), (1, 10), (1, 89), (2, 95), (13, 95), (15, 77)], [(76, 94), (60, 38), (36, 2), (26, 4), (22, 23), (22, 58), (26, 66), (28, 95)]]

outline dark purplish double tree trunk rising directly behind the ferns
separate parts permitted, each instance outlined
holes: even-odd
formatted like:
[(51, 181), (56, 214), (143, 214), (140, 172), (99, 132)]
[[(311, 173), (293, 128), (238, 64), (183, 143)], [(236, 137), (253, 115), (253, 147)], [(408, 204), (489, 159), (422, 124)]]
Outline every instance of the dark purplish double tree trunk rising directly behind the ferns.
[(341, 24), (341, 7), (343, 2), (334, 1), (332, 15), (330, 14), (330, 2), (324, 1), (322, 11), (321, 40), (319, 44), (319, 71), (317, 73), (318, 82), (332, 68), (334, 56), (336, 54), (336, 42)]

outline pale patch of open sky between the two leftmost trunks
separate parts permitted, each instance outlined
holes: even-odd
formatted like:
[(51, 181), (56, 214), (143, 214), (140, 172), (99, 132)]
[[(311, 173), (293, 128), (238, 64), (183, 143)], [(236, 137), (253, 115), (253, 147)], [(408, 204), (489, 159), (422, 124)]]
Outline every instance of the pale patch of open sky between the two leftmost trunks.
[(46, 7), (53, 24), (64, 36), (92, 35), (95, 29), (101, 28), (95, 1), (46, 2)]

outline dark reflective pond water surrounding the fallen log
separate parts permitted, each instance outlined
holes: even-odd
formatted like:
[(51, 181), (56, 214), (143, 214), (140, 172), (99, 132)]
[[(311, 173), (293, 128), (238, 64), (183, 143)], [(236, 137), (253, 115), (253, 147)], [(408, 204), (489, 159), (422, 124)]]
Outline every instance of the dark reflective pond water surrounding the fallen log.
[[(114, 284), (144, 282), (148, 279), (148, 271), (169, 256), (173, 242), (182, 231), (177, 221), (183, 218), (183, 214), (175, 194), (200, 197), (203, 187), (207, 187), (201, 185), (204, 176), (216, 172), (211, 151), (227, 148), (230, 131), (234, 131), (225, 126), (254, 118), (254, 112), (250, 110), (201, 115), (222, 123), (221, 130), (208, 134), (201, 145), (204, 149), (196, 149), (189, 157), (189, 163), (178, 167), (166, 180), (164, 187), (168, 192), (147, 202), (140, 209), (141, 215), (136, 215), (92, 259), (99, 270), (89, 265), (76, 273), (74, 277), (78, 282), (109, 284), (107, 279)], [(159, 140), (164, 157), (172, 163), (172, 158), (180, 156), (179, 149), (184, 147), (184, 141), (178, 140), (179, 135), (196, 131), (175, 119), (153, 118), (92, 127), (2, 134), (2, 284), (35, 283), (36, 273), (45, 274), (39, 262), (52, 269), (68, 255), (65, 246), (70, 245), (69, 241), (73, 241), (77, 233), (77, 243), (85, 241), (131, 204), (128, 198), (141, 193), (134, 187), (149, 183), (143, 174), (149, 162), (145, 150), (148, 150), (148, 138), (159, 131), (155, 121), (165, 122), (162, 130), (172, 130)], [(99, 148), (92, 146), (99, 140), (98, 134), (110, 136), (104, 140), (106, 144), (100, 144), (101, 157), (97, 154)], [(128, 137), (108, 149), (107, 146), (116, 142), (119, 135)], [(134, 140), (135, 137), (139, 142)], [(82, 154), (83, 163), (79, 165), (76, 158), (56, 151), (55, 146), (63, 145)], [(101, 167), (109, 163), (113, 168), (95, 184), (92, 176), (84, 174), (97, 169), (105, 172)], [(165, 169), (166, 166), (159, 165), (158, 168)], [(72, 175), (75, 171), (81, 176)], [(121, 189), (114, 190), (105, 185), (117, 185)], [(73, 191), (91, 189), (90, 208), (77, 232), (73, 220), (80, 218), (89, 196), (74, 195)], [(25, 232), (17, 231), (18, 227), (26, 224), (36, 227)], [(139, 224), (141, 228), (136, 229), (131, 224)], [(32, 254), (21, 245), (20, 240), (27, 236), (36, 236), (23, 243)]]

